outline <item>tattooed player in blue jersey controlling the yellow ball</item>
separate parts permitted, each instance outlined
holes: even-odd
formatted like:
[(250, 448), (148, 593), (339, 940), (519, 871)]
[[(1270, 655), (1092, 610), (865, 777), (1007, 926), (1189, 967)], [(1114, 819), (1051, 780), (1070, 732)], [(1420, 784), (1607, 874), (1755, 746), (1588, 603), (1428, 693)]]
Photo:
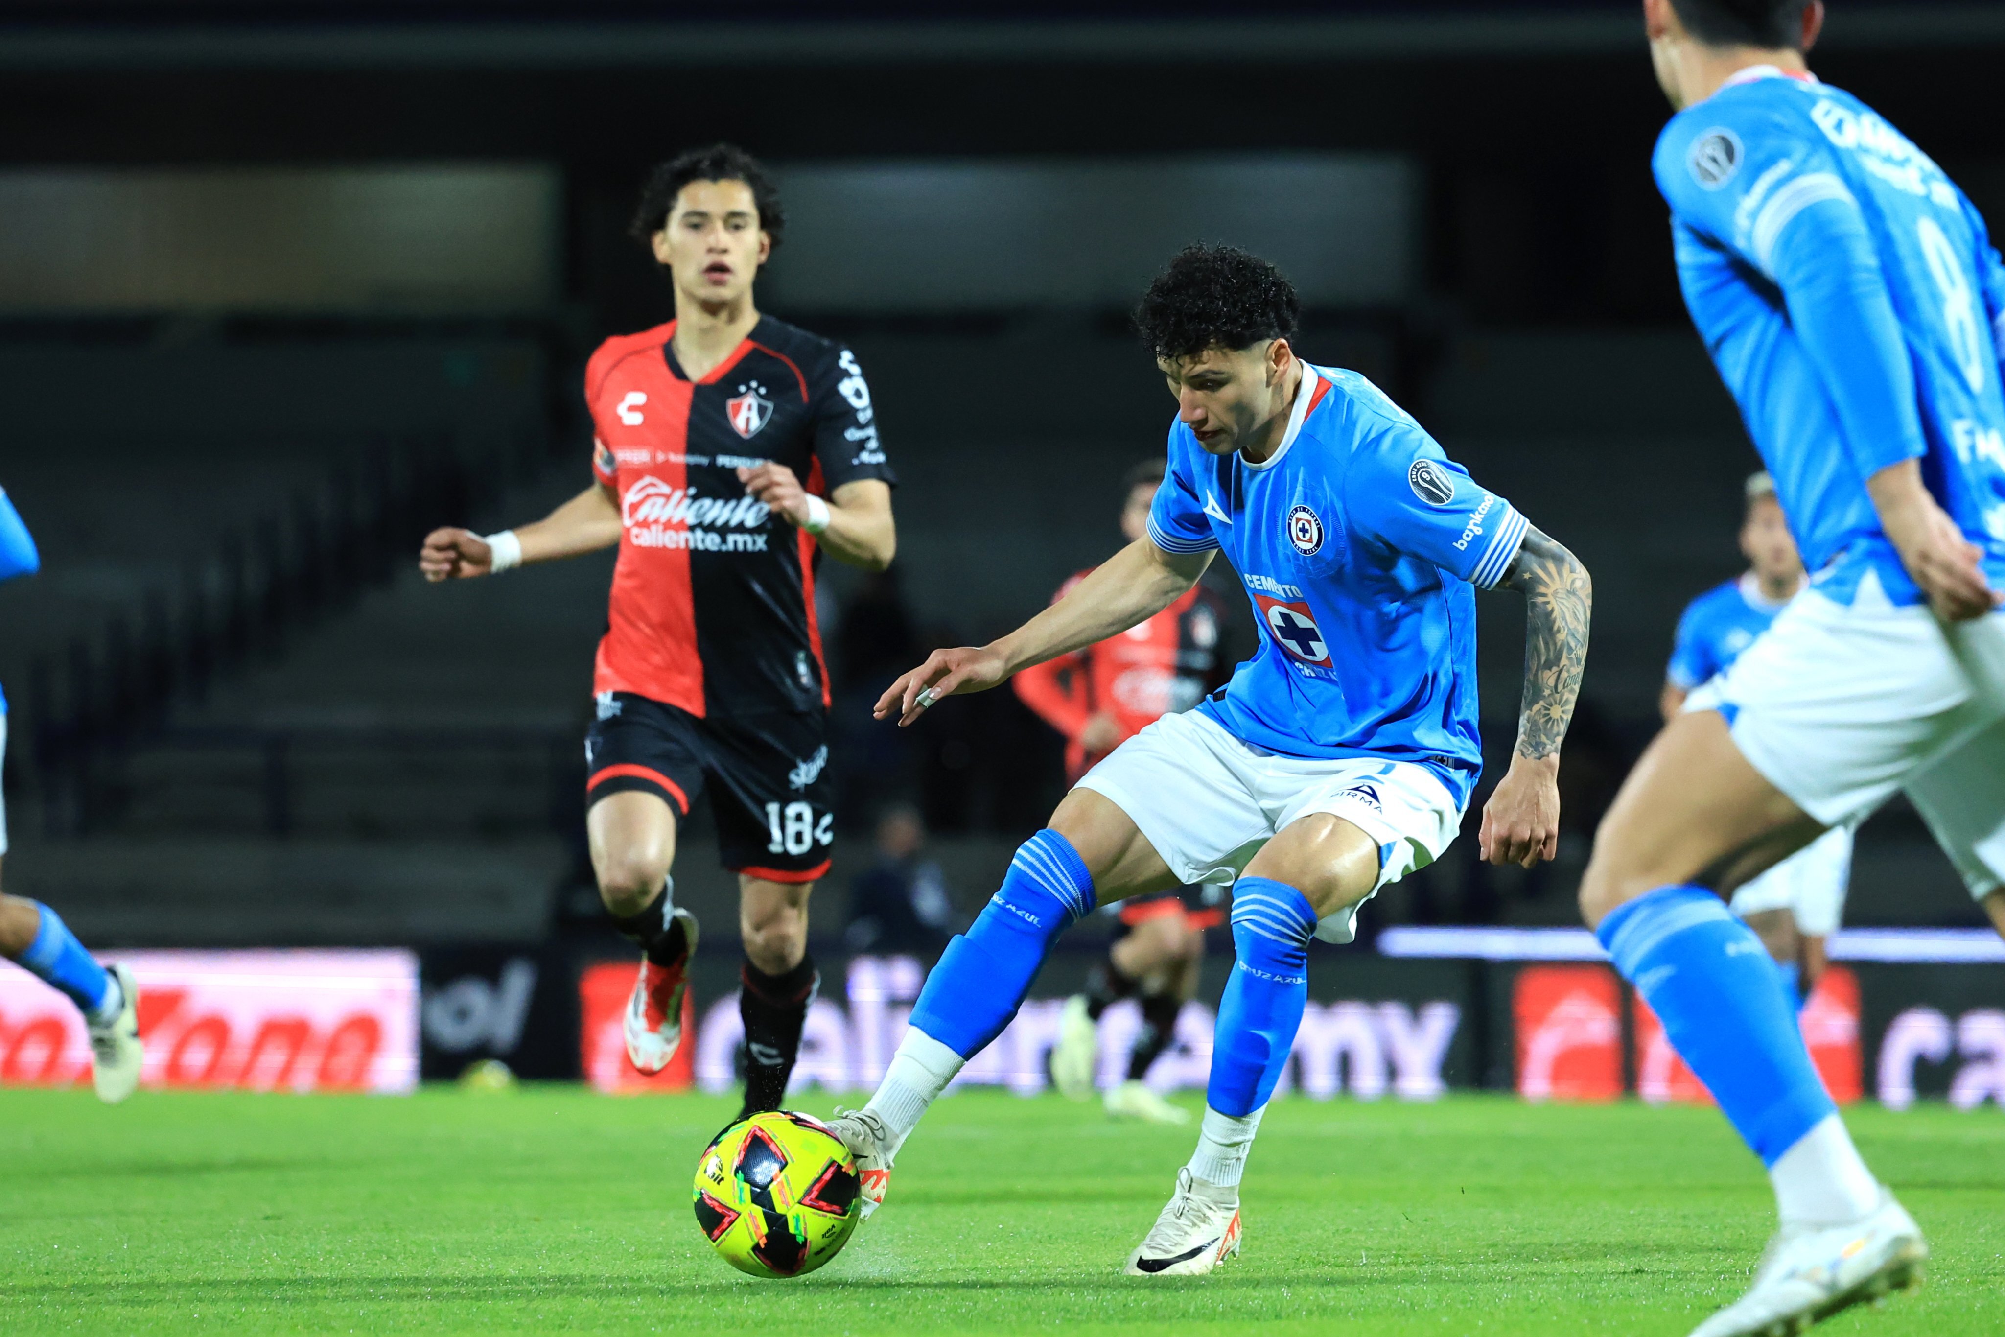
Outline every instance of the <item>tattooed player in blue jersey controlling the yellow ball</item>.
[(1223, 692), (1079, 782), (926, 976), (884, 1082), (832, 1125), (856, 1153), (864, 1211), (1067, 924), (1097, 902), (1233, 882), (1237, 960), (1197, 1153), (1127, 1271), (1207, 1273), (1239, 1251), (1239, 1181), (1301, 1026), (1309, 938), (1349, 942), (1359, 904), (1440, 858), (1482, 772), (1474, 589), (1526, 595), (1518, 746), (1482, 852), (1528, 868), (1554, 854), (1588, 573), (1369, 381), (1295, 357), (1297, 315), (1271, 265), (1231, 247), (1177, 255), (1137, 311), (1177, 399), (1149, 535), (1017, 631), (934, 651), (878, 702), (912, 724), (940, 698), (1105, 641), (1169, 607), (1219, 551), (1261, 625)]

